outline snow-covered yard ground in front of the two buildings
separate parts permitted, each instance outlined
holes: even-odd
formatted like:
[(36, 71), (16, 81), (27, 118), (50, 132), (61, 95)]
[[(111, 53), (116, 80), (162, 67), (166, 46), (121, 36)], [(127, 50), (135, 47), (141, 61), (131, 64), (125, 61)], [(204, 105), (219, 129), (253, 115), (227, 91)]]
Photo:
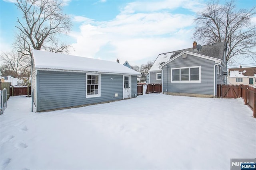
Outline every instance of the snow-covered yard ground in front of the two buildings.
[(230, 169), (256, 157), (256, 119), (242, 99), (148, 94), (31, 112), (11, 97), (0, 115), (0, 169)]

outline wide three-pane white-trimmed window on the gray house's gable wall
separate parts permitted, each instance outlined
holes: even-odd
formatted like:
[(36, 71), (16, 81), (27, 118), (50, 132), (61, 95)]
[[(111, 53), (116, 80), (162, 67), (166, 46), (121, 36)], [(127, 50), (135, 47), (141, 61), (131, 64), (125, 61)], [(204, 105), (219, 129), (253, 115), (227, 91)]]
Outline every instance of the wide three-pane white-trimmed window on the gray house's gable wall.
[(201, 66), (171, 69), (171, 82), (201, 82)]

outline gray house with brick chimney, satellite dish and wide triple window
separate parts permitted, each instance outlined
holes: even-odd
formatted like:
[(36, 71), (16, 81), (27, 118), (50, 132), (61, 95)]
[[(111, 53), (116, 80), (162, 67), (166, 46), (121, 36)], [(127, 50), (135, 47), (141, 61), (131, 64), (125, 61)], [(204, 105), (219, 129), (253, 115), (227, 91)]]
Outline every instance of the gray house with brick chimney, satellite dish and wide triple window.
[(224, 84), (224, 42), (159, 54), (149, 70), (150, 83), (162, 83), (164, 94), (216, 96), (217, 84)]

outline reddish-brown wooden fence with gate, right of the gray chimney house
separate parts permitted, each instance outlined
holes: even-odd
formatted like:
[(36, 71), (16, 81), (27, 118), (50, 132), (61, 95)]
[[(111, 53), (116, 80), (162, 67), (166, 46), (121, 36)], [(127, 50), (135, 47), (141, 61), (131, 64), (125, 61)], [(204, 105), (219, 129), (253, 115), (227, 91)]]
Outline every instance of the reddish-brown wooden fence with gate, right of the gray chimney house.
[(217, 85), (217, 97), (220, 98), (242, 98), (244, 104), (253, 110), (253, 117), (256, 118), (256, 87), (249, 85)]

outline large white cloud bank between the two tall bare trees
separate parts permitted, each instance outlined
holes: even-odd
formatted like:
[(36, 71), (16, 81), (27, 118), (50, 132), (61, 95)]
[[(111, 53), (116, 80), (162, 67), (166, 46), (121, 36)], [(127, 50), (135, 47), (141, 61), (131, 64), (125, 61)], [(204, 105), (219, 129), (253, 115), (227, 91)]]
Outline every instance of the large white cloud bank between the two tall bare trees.
[[(178, 1), (171, 2), (173, 8), (182, 6)], [(140, 3), (142, 2), (129, 3), (124, 8), (125, 12), (121, 11), (110, 21), (98, 22), (85, 17), (74, 17), (76, 21), (84, 23), (80, 26), (79, 33), (70, 34), (77, 40), (72, 44), (76, 50), (72, 54), (112, 61), (118, 58), (121, 63), (127, 60), (132, 65), (140, 65), (156, 59), (159, 53), (192, 46), (190, 38), (193, 15), (172, 14), (167, 11), (128, 12), (140, 9), (156, 11), (165, 8), (167, 4), (171, 8), (169, 1), (164, 2), (161, 8), (157, 7), (158, 2), (144, 2), (145, 9), (142, 9)]]

